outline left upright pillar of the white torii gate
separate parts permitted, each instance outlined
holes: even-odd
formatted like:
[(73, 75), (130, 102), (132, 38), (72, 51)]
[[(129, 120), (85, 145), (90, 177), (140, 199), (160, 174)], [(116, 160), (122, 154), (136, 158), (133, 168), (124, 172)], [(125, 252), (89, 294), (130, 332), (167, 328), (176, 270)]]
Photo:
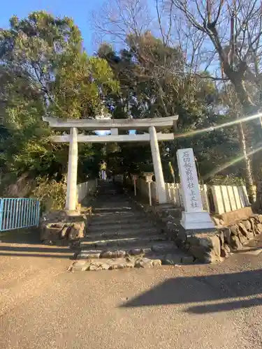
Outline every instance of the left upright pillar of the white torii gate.
[(67, 172), (67, 193), (66, 209), (75, 211), (78, 199), (78, 129), (72, 127), (70, 130), (68, 172)]

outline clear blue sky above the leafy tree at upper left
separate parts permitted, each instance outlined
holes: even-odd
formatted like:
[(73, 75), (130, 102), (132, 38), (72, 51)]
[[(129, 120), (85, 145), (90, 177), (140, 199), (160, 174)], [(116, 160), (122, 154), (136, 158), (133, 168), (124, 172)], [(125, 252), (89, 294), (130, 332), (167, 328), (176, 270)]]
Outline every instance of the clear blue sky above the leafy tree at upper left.
[(92, 11), (99, 8), (105, 0), (3, 0), (0, 10), (0, 28), (8, 28), (9, 18), (17, 15), (27, 17), (30, 12), (47, 10), (55, 16), (72, 17), (84, 38), (84, 46), (89, 54), (94, 52), (94, 41), (89, 19)]

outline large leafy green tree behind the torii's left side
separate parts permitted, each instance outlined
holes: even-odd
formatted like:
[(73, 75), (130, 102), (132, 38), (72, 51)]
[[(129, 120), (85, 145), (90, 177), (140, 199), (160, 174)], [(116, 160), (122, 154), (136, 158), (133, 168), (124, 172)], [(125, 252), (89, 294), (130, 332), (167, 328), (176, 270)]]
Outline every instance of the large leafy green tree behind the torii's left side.
[[(112, 70), (104, 59), (87, 56), (73, 20), (43, 11), (23, 20), (12, 17), (10, 28), (0, 30), (0, 59), (0, 147), (6, 179), (26, 172), (28, 177), (60, 180), (68, 147), (50, 142), (42, 117), (79, 119), (101, 113), (103, 95), (118, 88)], [(81, 146), (80, 168), (94, 154), (89, 144)]]

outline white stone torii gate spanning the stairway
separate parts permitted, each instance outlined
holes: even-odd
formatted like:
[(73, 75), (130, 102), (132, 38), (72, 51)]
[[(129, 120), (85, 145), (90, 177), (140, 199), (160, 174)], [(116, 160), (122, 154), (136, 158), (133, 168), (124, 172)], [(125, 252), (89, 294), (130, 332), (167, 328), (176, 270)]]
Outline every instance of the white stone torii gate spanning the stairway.
[[(52, 142), (69, 143), (68, 175), (66, 209), (74, 211), (77, 202), (77, 178), (78, 178), (78, 142), (108, 143), (108, 142), (150, 142), (154, 165), (154, 176), (157, 183), (157, 195), (159, 203), (166, 203), (166, 188), (163, 180), (163, 170), (159, 154), (158, 141), (173, 140), (174, 133), (157, 133), (162, 128), (173, 127), (176, 129), (178, 116), (161, 117), (156, 119), (57, 119), (43, 117), (51, 128), (57, 131), (68, 131), (67, 135), (54, 135)], [(78, 129), (85, 131), (108, 130), (110, 135), (85, 135), (78, 133)], [(149, 133), (142, 135), (119, 135), (118, 130), (137, 130)]]

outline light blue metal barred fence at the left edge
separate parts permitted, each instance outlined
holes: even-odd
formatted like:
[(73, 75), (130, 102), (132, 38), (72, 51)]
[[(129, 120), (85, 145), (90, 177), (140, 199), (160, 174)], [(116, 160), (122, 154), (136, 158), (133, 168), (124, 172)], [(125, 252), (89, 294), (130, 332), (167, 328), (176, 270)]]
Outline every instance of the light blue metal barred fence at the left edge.
[(0, 232), (37, 226), (39, 214), (36, 199), (0, 198)]

